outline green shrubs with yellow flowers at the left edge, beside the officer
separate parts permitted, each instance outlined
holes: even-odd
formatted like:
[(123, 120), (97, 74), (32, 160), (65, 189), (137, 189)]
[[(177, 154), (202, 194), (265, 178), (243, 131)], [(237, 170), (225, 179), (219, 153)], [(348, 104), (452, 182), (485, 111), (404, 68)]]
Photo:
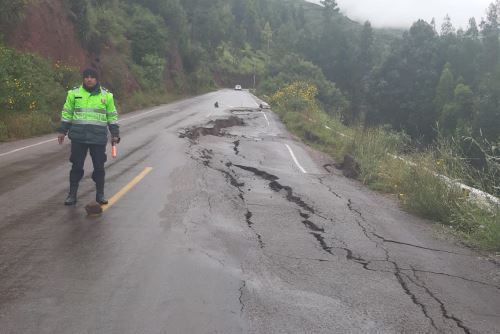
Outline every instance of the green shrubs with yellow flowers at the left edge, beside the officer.
[(8, 138), (52, 131), (77, 76), (72, 67), (0, 44), (0, 121)]

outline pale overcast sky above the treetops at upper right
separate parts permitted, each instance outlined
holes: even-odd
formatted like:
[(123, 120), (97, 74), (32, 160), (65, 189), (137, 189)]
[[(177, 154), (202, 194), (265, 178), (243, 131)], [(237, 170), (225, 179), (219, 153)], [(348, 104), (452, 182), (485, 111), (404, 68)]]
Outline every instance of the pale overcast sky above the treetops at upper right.
[[(319, 3), (319, 0), (307, 0)], [(375, 27), (409, 28), (418, 19), (436, 19), (438, 31), (448, 14), (453, 25), (467, 28), (469, 18), (479, 24), (494, 0), (337, 0), (342, 13), (353, 20), (369, 20)]]

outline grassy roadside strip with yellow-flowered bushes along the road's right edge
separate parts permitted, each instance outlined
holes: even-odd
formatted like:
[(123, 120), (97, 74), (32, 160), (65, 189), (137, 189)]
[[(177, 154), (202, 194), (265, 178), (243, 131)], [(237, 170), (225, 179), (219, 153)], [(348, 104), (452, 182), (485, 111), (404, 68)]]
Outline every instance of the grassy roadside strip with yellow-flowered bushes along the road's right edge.
[[(384, 127), (345, 126), (326, 114), (316, 100), (317, 88), (294, 82), (269, 101), (288, 129), (312, 147), (342, 161), (351, 154), (360, 165), (359, 180), (372, 189), (395, 194), (404, 209), (442, 223), (468, 244), (500, 250), (500, 207), (475, 201), (470, 193), (447, 184), (439, 175), (485, 191), (499, 186), (498, 147), (480, 145), (490, 159), (479, 173), (458, 153), (461, 145), (440, 138), (416, 151), (408, 136)], [(399, 158), (398, 158), (399, 157)]]

